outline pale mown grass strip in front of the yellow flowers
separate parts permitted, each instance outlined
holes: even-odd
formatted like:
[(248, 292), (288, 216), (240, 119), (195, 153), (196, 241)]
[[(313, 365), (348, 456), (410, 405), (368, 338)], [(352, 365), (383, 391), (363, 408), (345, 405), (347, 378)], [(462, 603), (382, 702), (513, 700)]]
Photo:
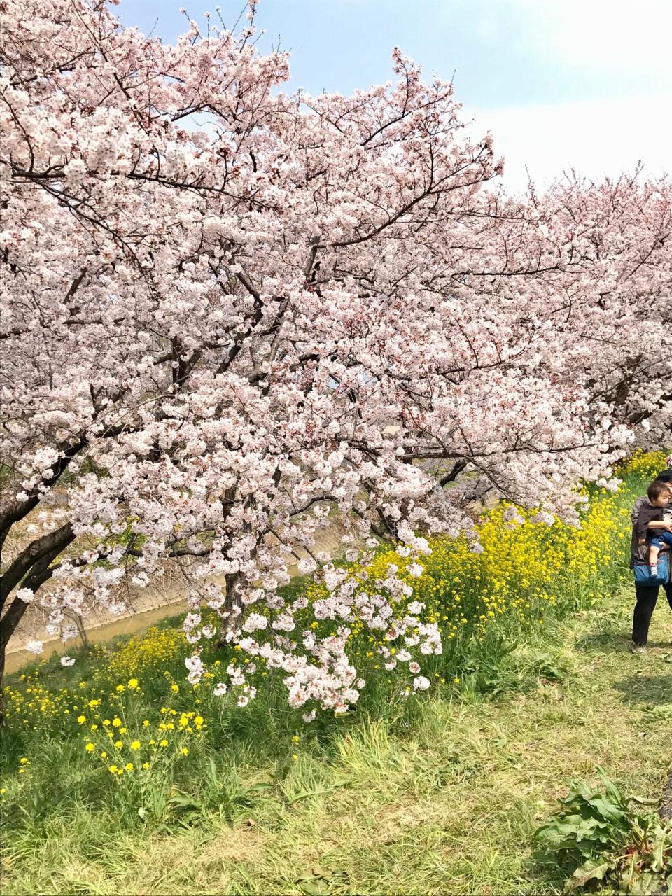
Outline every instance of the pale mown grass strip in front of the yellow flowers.
[(624, 590), (538, 635), (511, 658), (536, 681), (522, 692), (430, 698), (409, 728), (345, 726), (331, 760), (298, 745), (232, 826), (210, 814), (143, 835), (82, 811), (5, 835), (3, 892), (299, 893), (316, 865), (333, 874), (312, 892), (560, 892), (530, 840), (567, 781), (601, 765), (656, 797), (672, 758), (672, 613), (663, 599), (649, 656), (633, 657), (631, 608)]

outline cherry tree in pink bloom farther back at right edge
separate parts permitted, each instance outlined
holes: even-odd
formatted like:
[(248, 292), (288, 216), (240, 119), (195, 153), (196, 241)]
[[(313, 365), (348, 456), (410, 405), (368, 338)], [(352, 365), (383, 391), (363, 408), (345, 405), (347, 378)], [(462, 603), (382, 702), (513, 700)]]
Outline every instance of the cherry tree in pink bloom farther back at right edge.
[(659, 447), (672, 437), (672, 189), (668, 177), (642, 182), (641, 173), (602, 184), (573, 176), (542, 202), (551, 228), (586, 259), (566, 277), (556, 314), (566, 360), (591, 405), (606, 402), (638, 444)]

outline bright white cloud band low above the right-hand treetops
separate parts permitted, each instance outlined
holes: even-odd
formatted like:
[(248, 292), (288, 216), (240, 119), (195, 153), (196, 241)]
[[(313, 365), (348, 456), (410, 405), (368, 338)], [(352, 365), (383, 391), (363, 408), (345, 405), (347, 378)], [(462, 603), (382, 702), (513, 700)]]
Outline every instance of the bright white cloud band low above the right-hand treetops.
[(504, 185), (538, 187), (574, 168), (592, 178), (617, 177), (639, 160), (644, 174), (671, 172), (672, 116), (666, 94), (496, 109), (464, 108), (473, 134), (492, 131), (495, 155), (504, 155)]

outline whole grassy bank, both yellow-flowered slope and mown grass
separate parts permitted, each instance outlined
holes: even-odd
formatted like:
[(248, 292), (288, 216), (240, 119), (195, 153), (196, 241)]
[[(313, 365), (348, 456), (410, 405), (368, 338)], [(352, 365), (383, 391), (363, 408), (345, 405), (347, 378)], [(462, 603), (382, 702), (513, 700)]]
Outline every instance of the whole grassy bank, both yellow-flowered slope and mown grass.
[(355, 711), (306, 726), (260, 668), (238, 708), (213, 695), (230, 658), (186, 685), (170, 625), (16, 676), (3, 892), (561, 892), (530, 843), (569, 780), (600, 765), (657, 797), (672, 758), (672, 613), (662, 599), (650, 655), (633, 657), (632, 586), (616, 584), (659, 462), (631, 461), (616, 495), (593, 489), (575, 543), (499, 508), (479, 559), (436, 550), (420, 584), (455, 634), (419, 697), (380, 670)]

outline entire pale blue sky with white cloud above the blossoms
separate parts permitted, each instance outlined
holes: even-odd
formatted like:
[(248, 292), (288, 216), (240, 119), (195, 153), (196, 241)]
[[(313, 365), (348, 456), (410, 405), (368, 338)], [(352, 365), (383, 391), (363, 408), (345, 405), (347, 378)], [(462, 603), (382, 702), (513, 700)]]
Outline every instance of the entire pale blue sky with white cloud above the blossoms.
[[(172, 42), (208, 0), (123, 0), (123, 22)], [(244, 0), (220, 0), (234, 22)], [(672, 0), (261, 0), (261, 47), (291, 52), (291, 82), (348, 93), (389, 81), (392, 47), (451, 78), (477, 132), (504, 154), (504, 181), (563, 169), (616, 176), (642, 159), (672, 170)]]

